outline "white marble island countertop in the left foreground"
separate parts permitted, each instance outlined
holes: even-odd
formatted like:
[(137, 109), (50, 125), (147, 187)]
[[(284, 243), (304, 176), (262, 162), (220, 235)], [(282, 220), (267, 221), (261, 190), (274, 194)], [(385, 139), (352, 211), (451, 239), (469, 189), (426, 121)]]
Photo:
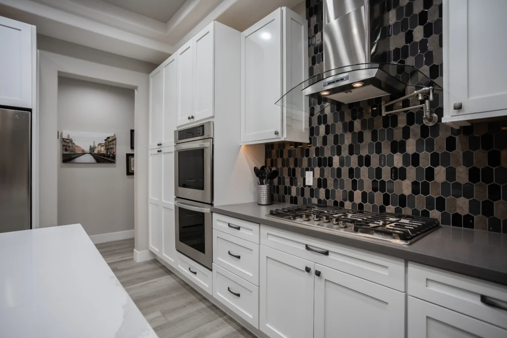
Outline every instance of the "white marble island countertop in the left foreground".
[(80, 224), (0, 234), (2, 338), (157, 338)]

